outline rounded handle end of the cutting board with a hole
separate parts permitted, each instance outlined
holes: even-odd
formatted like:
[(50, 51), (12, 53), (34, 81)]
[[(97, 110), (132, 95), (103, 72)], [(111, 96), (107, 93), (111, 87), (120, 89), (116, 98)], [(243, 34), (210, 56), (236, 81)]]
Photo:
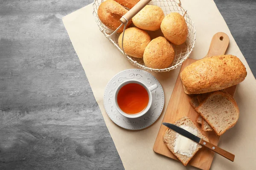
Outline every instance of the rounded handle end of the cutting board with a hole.
[(218, 32), (212, 37), (209, 51), (205, 57), (224, 55), (229, 44), (229, 37), (224, 32)]

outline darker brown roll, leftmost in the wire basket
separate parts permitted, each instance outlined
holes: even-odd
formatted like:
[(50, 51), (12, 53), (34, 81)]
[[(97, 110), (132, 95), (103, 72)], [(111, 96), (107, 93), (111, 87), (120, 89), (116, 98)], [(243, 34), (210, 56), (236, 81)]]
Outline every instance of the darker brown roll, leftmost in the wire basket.
[[(121, 6), (114, 0), (106, 0), (99, 5), (98, 16), (99, 20), (110, 28), (111, 30), (116, 30), (121, 25), (119, 19), (128, 12), (125, 7)], [(127, 24), (127, 28), (131, 25), (131, 20)], [(122, 32), (124, 26), (119, 28), (118, 33)]]

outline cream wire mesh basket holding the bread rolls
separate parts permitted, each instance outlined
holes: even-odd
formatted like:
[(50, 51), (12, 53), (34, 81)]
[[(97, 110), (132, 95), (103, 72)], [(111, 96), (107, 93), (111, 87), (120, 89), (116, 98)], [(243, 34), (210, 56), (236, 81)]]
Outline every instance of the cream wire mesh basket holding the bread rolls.
[[(100, 31), (107, 37), (113, 30), (109, 29), (106, 27), (100, 20), (97, 14), (99, 5), (103, 2), (104, 0), (94, 0), (93, 3), (93, 16), (95, 17), (96, 23), (99, 26)], [(186, 21), (186, 24), (188, 26), (188, 36), (186, 39), (186, 42), (183, 43), (182, 45), (173, 45), (175, 49), (175, 59), (172, 65), (169, 66), (169, 68), (164, 68), (164, 69), (155, 69), (155, 68), (149, 68), (147, 67), (144, 62), (143, 58), (136, 58), (136, 57), (131, 57), (125, 52), (122, 51), (122, 48), (119, 47), (118, 45), (118, 37), (120, 33), (115, 33), (111, 37), (107, 37), (108, 40), (122, 53), (125, 55), (125, 57), (135, 66), (142, 68), (146, 71), (151, 71), (151, 72), (165, 72), (165, 71), (170, 71), (173, 69), (176, 69), (179, 65), (181, 65), (188, 57), (189, 54), (192, 52), (194, 46), (195, 46), (195, 26), (190, 18), (189, 14), (187, 11), (181, 6), (181, 3), (177, 3), (175, 0), (151, 0), (149, 5), (155, 5), (159, 6), (162, 8), (163, 12), (165, 15), (171, 13), (171, 12), (178, 12), (182, 16), (184, 16), (184, 19)], [(146, 30), (145, 30), (146, 31)], [(148, 31), (148, 33), (151, 35), (152, 31)]]

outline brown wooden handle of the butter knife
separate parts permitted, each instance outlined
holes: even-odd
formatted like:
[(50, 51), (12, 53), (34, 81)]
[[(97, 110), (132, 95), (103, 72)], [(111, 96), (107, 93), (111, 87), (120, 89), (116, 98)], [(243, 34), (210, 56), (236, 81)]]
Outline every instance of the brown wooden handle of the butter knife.
[(221, 156), (224, 156), (225, 158), (227, 158), (230, 161), (234, 161), (234, 159), (235, 159), (235, 155), (233, 155), (232, 153), (229, 153), (228, 151), (223, 150), (220, 147), (215, 146), (214, 144), (211, 144), (211, 143), (205, 141), (204, 139), (201, 139), (199, 144), (201, 144), (205, 147), (208, 147), (210, 150), (220, 154)]

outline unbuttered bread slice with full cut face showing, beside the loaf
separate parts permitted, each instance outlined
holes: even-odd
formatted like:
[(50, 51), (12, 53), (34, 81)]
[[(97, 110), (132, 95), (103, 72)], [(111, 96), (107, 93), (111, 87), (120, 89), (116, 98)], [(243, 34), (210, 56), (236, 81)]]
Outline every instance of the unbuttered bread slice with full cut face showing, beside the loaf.
[(239, 118), (236, 101), (229, 94), (220, 91), (210, 94), (195, 111), (207, 121), (218, 136), (236, 125)]

